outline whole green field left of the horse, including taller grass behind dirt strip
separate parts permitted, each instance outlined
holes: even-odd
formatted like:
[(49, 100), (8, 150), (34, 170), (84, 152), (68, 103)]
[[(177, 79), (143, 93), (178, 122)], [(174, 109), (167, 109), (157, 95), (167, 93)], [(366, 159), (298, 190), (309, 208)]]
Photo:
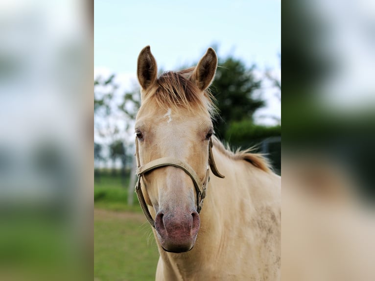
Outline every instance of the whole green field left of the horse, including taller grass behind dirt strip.
[(94, 280), (155, 280), (159, 258), (151, 226), (138, 201), (127, 206), (120, 177), (101, 176), (94, 186)]

